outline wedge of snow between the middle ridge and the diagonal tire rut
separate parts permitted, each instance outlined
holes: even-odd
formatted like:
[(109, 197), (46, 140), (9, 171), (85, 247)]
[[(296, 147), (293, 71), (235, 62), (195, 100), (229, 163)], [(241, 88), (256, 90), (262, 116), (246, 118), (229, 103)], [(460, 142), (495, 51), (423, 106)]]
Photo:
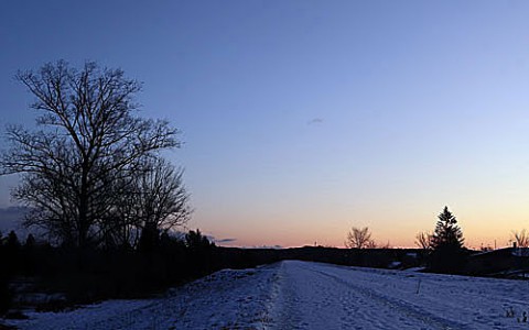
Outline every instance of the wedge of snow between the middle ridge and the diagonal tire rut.
[(321, 264), (283, 262), (272, 329), (465, 329), (463, 324), (387, 299)]

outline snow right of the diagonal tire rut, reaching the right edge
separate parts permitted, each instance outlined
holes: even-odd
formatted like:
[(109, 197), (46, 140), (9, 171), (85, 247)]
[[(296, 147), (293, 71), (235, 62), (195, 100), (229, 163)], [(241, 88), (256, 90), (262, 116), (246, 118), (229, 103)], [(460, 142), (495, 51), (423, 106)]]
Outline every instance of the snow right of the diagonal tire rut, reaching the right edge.
[[(403, 301), (417, 310), (462, 323), (463, 329), (527, 329), (517, 317), (527, 311), (527, 282), (409, 273), (377, 268), (321, 265), (326, 273), (350, 279), (349, 284), (367, 287), (384, 297)], [(349, 273), (349, 272), (354, 273)], [(347, 273), (350, 275), (348, 276)], [(422, 283), (421, 293), (417, 292)], [(514, 309), (516, 317), (507, 318)], [(523, 327), (526, 326), (526, 327)]]

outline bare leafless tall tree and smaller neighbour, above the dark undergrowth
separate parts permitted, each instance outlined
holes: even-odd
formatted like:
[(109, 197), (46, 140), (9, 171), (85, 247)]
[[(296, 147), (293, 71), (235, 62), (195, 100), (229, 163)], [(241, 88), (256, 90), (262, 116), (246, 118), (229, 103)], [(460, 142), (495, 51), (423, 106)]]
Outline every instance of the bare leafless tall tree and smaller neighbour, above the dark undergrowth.
[(25, 227), (73, 249), (114, 249), (188, 221), (183, 169), (163, 156), (181, 146), (180, 131), (138, 116), (139, 81), (64, 61), (15, 79), (39, 116), (36, 128), (7, 127), (0, 175), (19, 175), (12, 197), (29, 210)]

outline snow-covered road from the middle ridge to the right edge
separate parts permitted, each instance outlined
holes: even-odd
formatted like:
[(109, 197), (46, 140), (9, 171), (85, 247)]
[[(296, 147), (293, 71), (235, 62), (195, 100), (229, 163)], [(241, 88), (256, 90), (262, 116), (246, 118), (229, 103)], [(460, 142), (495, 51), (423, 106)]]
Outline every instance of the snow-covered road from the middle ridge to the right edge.
[(505, 317), (510, 307), (520, 318), (527, 310), (525, 298), (511, 295), (520, 285), (512, 280), (298, 261), (283, 262), (278, 276), (276, 329), (529, 328)]

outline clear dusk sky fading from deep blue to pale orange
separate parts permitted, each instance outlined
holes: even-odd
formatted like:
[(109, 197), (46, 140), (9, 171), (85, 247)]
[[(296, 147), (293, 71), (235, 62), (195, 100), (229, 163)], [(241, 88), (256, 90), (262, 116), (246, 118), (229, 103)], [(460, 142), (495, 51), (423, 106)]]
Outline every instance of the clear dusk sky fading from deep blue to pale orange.
[[(182, 133), (190, 229), (233, 246), (413, 246), (447, 206), (466, 245), (529, 229), (527, 1), (1, 1), (0, 129), (13, 79), (66, 59), (143, 82)], [(3, 138), (3, 135), (2, 135)], [(6, 140), (0, 147), (7, 147)], [(0, 177), (0, 207), (15, 205)]]

